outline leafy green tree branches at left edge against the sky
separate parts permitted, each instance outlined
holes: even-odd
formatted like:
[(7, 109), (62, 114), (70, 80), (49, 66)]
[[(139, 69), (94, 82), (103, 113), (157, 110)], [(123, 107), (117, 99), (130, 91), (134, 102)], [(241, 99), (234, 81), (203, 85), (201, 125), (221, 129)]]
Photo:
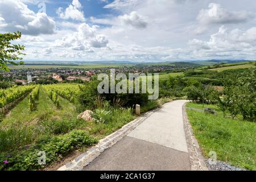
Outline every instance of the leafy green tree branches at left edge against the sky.
[(11, 41), (20, 39), (22, 34), (17, 31), (13, 33), (0, 34), (0, 70), (9, 71), (7, 64), (20, 65), (23, 64), (22, 53), (25, 47), (20, 44), (12, 44)]

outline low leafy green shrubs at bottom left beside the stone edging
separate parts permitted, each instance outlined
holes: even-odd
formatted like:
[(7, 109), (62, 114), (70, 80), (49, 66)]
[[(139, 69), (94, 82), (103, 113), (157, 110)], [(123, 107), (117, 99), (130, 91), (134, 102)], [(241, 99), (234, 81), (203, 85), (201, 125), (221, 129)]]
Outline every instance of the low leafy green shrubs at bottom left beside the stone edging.
[(82, 146), (91, 146), (97, 140), (90, 137), (85, 131), (73, 130), (59, 137), (44, 137), (28, 150), (16, 152), (15, 154), (0, 155), (0, 170), (34, 170), (44, 166), (38, 163), (39, 151), (46, 152), (46, 163), (61, 158), (62, 155)]

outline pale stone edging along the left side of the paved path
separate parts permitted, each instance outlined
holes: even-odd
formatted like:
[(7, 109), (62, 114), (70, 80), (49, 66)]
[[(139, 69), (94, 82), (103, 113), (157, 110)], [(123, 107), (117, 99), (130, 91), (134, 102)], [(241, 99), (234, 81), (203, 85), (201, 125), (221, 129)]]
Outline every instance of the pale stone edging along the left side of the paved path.
[(71, 163), (67, 163), (63, 167), (60, 167), (58, 171), (81, 171), (85, 166), (88, 166), (90, 162), (96, 159), (102, 152), (112, 147), (115, 143), (117, 143), (119, 140), (121, 140), (131, 131), (133, 131), (138, 125), (140, 125), (145, 119), (147, 119), (156, 110), (158, 109), (155, 109), (143, 114), (141, 117), (138, 117), (133, 121), (131, 121), (130, 123), (127, 123), (121, 129), (101, 139), (96, 146), (89, 148), (88, 151), (78, 156)]

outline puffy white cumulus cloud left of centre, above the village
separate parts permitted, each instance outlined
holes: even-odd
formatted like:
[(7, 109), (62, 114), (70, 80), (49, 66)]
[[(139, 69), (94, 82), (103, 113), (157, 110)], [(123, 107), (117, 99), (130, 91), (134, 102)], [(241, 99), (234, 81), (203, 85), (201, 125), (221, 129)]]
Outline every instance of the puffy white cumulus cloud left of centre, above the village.
[(92, 48), (106, 47), (109, 40), (104, 34), (97, 34), (98, 26), (82, 23), (72, 35), (55, 41), (56, 47), (68, 47), (77, 51), (93, 52)]

